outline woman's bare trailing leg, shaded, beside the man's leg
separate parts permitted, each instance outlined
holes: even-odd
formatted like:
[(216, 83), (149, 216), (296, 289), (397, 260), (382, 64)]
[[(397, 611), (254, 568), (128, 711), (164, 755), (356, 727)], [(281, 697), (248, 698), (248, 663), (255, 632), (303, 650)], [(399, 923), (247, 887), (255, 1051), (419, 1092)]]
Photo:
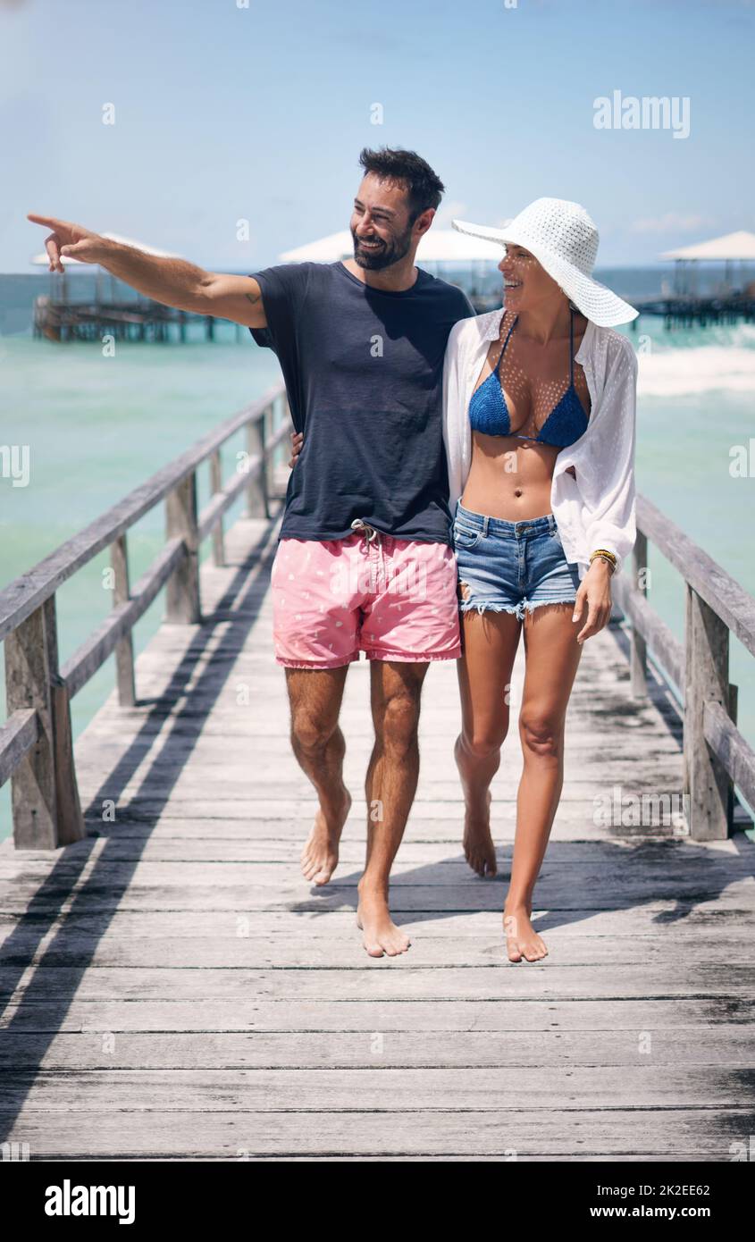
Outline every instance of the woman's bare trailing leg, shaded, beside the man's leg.
[(458, 661), (462, 732), (453, 749), (464, 791), (464, 854), (478, 876), (495, 874), (491, 781), (509, 727), (509, 691), (522, 622), (514, 614), (462, 612)]

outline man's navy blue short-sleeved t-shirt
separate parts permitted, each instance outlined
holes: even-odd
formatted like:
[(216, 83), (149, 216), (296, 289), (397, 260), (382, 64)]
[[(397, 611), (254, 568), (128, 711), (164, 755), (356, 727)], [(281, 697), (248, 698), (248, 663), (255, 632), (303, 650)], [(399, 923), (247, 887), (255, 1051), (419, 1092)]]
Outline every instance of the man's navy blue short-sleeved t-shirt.
[(451, 543), (441, 397), (443, 354), (474, 314), (453, 284), (418, 270), (401, 293), (341, 262), (253, 273), (293, 425), (304, 432), (279, 539), (345, 539), (361, 518), (401, 539)]

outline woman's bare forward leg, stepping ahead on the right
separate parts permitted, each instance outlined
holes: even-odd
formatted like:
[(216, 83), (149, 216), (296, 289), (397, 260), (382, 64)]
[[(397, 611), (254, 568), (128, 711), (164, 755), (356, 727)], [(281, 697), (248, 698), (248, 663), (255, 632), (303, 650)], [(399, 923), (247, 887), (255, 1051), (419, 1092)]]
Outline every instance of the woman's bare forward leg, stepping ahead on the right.
[(517, 795), (512, 879), (503, 910), (509, 961), (548, 953), (534, 930), (533, 891), (564, 784), (564, 729), (581, 656), (572, 604), (545, 604), (524, 621), (525, 674), (519, 712), (524, 770)]

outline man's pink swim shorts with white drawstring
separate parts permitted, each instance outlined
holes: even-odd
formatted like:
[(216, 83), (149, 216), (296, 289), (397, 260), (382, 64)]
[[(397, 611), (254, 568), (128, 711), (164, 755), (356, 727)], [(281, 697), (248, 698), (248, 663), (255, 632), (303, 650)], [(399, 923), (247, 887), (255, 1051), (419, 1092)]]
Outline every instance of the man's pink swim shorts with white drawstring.
[(457, 570), (442, 543), (365, 525), (346, 539), (281, 539), (272, 565), (276, 660), (338, 668), (359, 660), (458, 660)]

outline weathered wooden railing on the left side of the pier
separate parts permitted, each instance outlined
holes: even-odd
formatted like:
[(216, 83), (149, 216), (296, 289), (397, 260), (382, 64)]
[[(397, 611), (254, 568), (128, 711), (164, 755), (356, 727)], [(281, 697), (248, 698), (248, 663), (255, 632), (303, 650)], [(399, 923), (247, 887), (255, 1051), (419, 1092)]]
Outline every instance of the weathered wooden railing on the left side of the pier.
[[(281, 417), (274, 426), (278, 402)], [(221, 447), (245, 427), (243, 461), (224, 484)], [(0, 728), (0, 785), (10, 777), (14, 841), (19, 848), (55, 848), (84, 836), (73, 765), (71, 699), (114, 652), (119, 702), (124, 707), (135, 703), (132, 643), (135, 622), (163, 586), (165, 621), (185, 625), (200, 621), (199, 548), (212, 535), (215, 564), (224, 564), (222, 518), (242, 492), (246, 492), (247, 515), (269, 517), (268, 469), (274, 450), (288, 438), (289, 430), (286, 392), (278, 385), (0, 592), (7, 710), (7, 720)], [(212, 497), (197, 514), (196, 472), (206, 461)], [(132, 590), (127, 532), (163, 499), (165, 545)], [(108, 546), (113, 571), (111, 615), (60, 666), (56, 591)]]

